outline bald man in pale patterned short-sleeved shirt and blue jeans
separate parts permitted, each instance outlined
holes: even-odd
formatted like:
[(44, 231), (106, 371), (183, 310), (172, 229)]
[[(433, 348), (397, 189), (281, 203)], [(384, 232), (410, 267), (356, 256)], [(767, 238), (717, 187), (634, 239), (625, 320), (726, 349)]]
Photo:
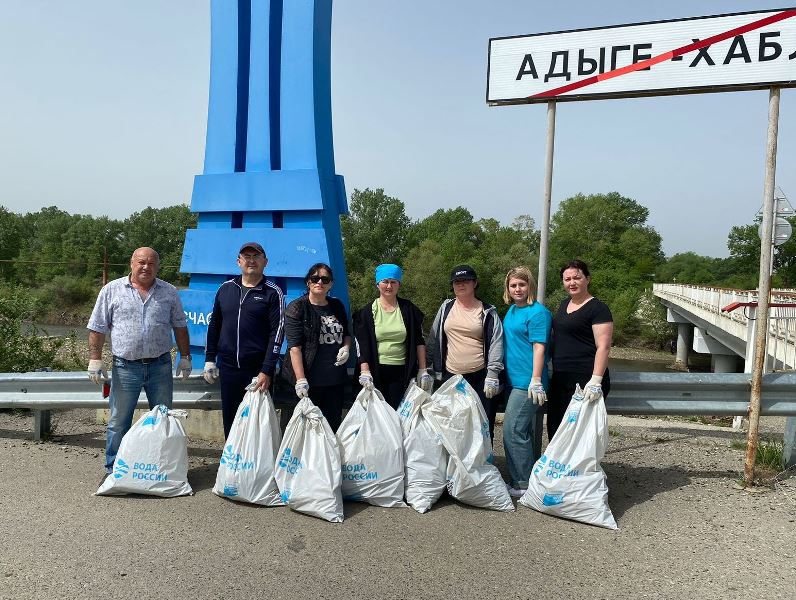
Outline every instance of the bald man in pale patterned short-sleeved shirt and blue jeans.
[(88, 376), (101, 384), (106, 379), (102, 346), (110, 334), (113, 367), (111, 416), (105, 446), (105, 470), (110, 473), (122, 437), (130, 429), (141, 390), (149, 407), (171, 406), (171, 333), (182, 355), (177, 374), (191, 372), (188, 327), (177, 289), (157, 278), (160, 257), (152, 248), (138, 248), (130, 259), (130, 275), (114, 279), (97, 296), (88, 322)]

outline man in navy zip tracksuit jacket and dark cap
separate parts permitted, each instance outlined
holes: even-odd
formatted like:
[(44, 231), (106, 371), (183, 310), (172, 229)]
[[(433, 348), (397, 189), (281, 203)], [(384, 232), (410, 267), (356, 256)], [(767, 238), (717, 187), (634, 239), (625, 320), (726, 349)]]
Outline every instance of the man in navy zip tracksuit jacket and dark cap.
[(207, 328), (205, 379), (221, 379), (224, 437), (229, 436), (246, 386), (271, 386), (284, 337), (282, 290), (264, 276), (268, 258), (257, 242), (247, 242), (238, 254), (241, 275), (216, 292)]

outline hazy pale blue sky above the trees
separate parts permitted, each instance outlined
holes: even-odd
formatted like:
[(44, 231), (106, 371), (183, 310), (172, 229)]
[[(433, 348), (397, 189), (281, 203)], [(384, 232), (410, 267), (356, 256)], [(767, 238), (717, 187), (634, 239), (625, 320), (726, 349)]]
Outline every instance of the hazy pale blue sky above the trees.
[[(486, 105), (490, 37), (769, 8), (336, 0), (337, 172), (349, 193), (383, 187), (412, 218), (461, 205), (538, 221), (545, 107)], [(0, 0), (0, 204), (124, 217), (190, 202), (209, 27), (208, 0)], [(795, 101), (783, 90), (778, 155), (794, 204)], [(767, 111), (766, 91), (560, 104), (553, 209), (578, 192), (618, 191), (649, 208), (667, 254), (725, 256), (730, 227), (762, 202)]]

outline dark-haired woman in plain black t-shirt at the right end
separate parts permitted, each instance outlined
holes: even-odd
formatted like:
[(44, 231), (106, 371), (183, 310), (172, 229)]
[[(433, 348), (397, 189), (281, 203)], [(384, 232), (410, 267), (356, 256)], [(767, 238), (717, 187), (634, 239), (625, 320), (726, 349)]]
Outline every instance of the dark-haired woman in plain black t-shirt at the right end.
[(569, 298), (561, 301), (553, 317), (553, 377), (547, 394), (547, 437), (551, 440), (577, 384), (587, 401), (599, 400), (611, 390), (611, 311), (589, 293), (591, 278), (585, 262), (572, 260), (560, 273)]

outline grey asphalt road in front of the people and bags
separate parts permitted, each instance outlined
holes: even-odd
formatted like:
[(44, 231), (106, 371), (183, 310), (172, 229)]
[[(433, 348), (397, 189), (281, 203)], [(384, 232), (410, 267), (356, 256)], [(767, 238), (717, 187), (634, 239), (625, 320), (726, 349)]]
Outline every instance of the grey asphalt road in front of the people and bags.
[(201, 442), (194, 496), (95, 497), (93, 411), (45, 443), (30, 421), (0, 413), (4, 599), (796, 598), (796, 478), (736, 489), (740, 436), (715, 427), (611, 417), (609, 531), (447, 498), (348, 503), (341, 524), (241, 505), (211, 492), (220, 446)]

